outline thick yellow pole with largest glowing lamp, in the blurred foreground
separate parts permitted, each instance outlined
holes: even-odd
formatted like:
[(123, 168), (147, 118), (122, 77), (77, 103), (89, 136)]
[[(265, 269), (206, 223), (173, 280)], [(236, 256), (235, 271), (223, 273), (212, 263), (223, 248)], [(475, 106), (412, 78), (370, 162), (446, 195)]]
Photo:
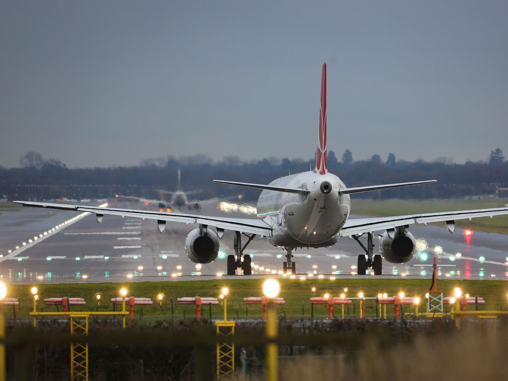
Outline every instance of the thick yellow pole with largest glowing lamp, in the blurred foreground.
[[(275, 316), (275, 307), (273, 298), (279, 293), (279, 283), (275, 279), (267, 279), (263, 283), (263, 293), (268, 298), (268, 313), (266, 316), (265, 332), (267, 339), (277, 338), (277, 317)], [(278, 379), (278, 352), (276, 343), (266, 344), (266, 379), (268, 381), (277, 381)]]

